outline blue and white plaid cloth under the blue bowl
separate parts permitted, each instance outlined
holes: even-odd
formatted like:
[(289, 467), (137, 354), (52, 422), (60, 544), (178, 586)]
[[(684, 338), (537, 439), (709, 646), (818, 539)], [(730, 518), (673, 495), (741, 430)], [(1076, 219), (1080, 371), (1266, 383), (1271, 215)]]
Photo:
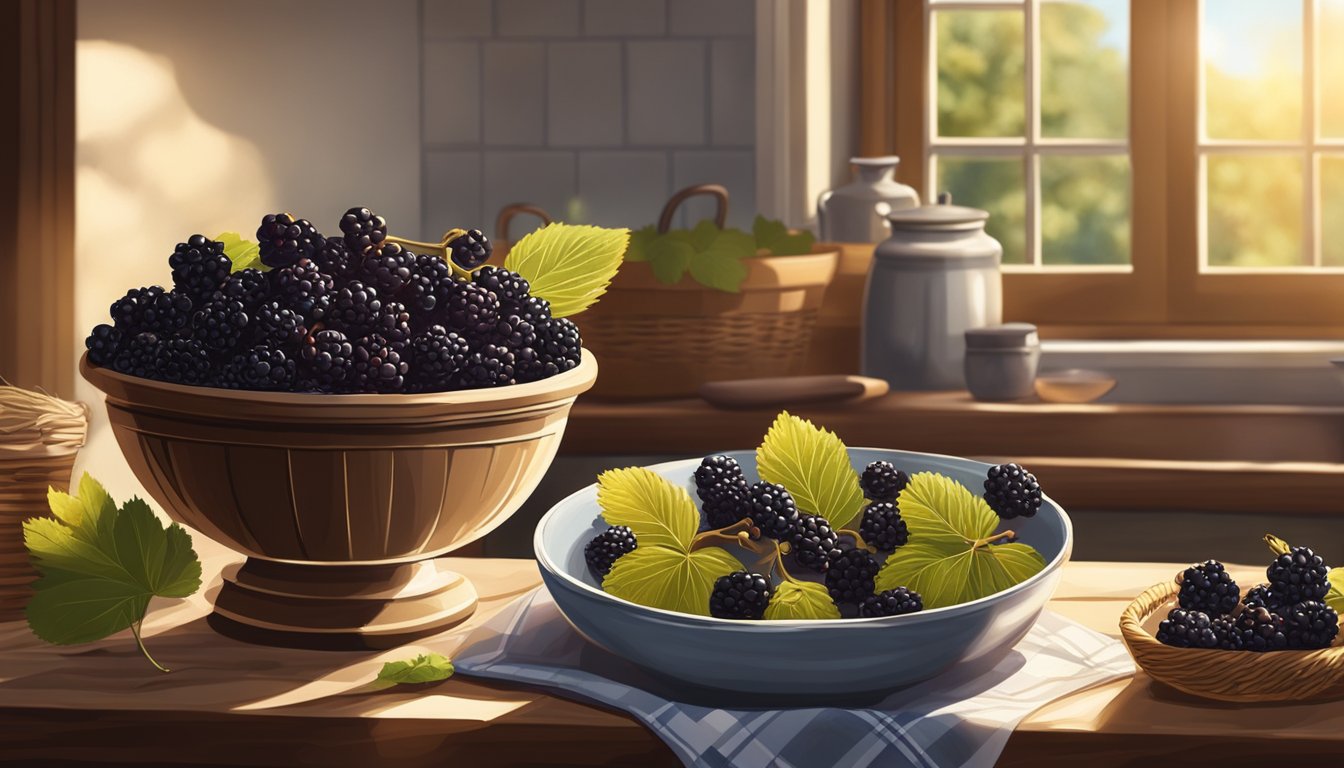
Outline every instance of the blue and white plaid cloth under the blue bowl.
[(1134, 674), (1125, 647), (1050, 611), (993, 668), (938, 679), (855, 707), (761, 709), (728, 694), (696, 701), (585, 640), (546, 589), (473, 632), (457, 673), (552, 689), (628, 712), (687, 765), (810, 768), (989, 767), (1038, 707)]

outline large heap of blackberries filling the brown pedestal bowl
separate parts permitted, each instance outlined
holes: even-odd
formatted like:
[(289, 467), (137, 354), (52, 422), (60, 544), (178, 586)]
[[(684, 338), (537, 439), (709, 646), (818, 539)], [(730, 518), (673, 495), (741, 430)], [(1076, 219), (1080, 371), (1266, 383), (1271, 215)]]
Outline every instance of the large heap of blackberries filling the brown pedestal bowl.
[[(387, 238), (351, 208), (340, 235), (266, 215), (262, 268), (233, 270), (224, 243), (192, 235), (172, 288), (136, 288), (86, 340), (89, 362), (171, 383), (310, 393), (425, 393), (532, 382), (578, 366), (579, 331), (521, 276), (481, 266), (480, 230), (437, 254)], [(470, 272), (470, 278), (465, 273)]]

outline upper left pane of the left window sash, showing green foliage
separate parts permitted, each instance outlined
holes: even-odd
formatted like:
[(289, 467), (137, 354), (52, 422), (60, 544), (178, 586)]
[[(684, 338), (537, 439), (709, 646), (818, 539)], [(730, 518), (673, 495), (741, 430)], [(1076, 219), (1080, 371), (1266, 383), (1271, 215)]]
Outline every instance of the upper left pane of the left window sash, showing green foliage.
[(1023, 136), (1021, 11), (937, 11), (938, 135)]

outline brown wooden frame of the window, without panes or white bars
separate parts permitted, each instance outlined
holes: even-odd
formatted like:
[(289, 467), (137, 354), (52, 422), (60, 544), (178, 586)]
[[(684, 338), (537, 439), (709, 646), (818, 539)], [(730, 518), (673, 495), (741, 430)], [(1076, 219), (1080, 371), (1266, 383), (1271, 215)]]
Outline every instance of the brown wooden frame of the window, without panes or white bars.
[[(1005, 319), (1054, 338), (1344, 332), (1344, 273), (1202, 266), (1200, 12), (1202, 0), (1130, 0), (1130, 50), (1142, 51), (1129, 56), (1133, 269), (1008, 269)], [(929, 28), (927, 0), (862, 0), (860, 152), (918, 157), (900, 164), (900, 180), (922, 192), (933, 124)]]

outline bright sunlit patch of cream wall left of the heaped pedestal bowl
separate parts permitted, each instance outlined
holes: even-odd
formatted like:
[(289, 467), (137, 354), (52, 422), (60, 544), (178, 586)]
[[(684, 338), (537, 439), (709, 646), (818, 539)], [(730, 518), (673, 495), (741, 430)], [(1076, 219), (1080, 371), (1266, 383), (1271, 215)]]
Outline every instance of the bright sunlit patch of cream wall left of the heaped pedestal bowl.
[[(168, 285), (168, 256), (194, 233), (250, 234), (276, 207), (261, 153), (188, 106), (172, 63), (134, 47), (79, 40), (75, 48), (77, 348), (128, 289)], [(82, 378), (91, 408), (79, 455), (114, 498), (144, 495), (116, 445), (102, 395)]]

